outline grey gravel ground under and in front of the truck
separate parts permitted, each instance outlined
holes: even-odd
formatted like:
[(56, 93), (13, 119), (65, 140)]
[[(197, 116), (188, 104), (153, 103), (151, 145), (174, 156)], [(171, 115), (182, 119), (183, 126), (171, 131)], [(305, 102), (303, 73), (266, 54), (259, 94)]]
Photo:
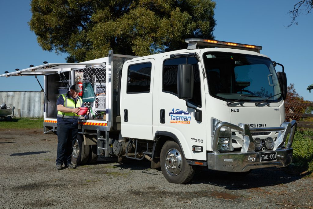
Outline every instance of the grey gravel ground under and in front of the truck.
[(313, 208), (313, 174), (291, 166), (245, 177), (198, 167), (177, 185), (147, 160), (55, 170), (56, 147), (42, 129), (0, 130), (0, 208)]

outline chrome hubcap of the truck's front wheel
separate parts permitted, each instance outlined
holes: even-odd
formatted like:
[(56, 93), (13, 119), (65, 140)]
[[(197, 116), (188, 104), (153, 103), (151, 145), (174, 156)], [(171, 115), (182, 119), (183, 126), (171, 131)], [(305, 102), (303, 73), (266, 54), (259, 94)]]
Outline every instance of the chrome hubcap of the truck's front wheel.
[(178, 175), (182, 168), (182, 156), (177, 149), (167, 150), (165, 168), (170, 175)]

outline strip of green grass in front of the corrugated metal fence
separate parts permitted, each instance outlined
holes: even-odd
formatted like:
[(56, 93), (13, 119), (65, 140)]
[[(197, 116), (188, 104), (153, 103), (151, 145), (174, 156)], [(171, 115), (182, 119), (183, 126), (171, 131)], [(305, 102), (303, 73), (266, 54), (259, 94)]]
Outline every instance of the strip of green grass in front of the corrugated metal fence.
[(44, 118), (12, 118), (11, 121), (0, 120), (0, 129), (43, 128)]

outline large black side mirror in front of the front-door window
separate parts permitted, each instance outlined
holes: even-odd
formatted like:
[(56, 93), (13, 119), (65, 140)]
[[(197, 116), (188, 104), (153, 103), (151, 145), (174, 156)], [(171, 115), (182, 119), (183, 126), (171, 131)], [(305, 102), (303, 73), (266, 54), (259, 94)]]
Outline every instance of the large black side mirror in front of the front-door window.
[(191, 64), (178, 65), (177, 94), (179, 99), (192, 99), (193, 68)]

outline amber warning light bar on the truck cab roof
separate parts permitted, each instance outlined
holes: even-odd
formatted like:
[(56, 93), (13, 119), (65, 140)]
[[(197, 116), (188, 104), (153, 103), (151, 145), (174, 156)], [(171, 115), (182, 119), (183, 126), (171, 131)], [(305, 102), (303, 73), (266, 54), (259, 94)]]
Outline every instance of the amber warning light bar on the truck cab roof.
[(197, 43), (199, 46), (214, 46), (216, 44), (216, 47), (223, 47), (227, 46), (230, 48), (246, 48), (247, 50), (253, 50), (258, 51), (262, 49), (262, 46), (256, 46), (256, 45), (250, 45), (250, 44), (239, 44), (239, 43), (233, 43), (233, 42), (227, 42), (227, 41), (218, 41), (218, 40), (209, 40), (209, 39), (198, 39), (198, 38), (191, 38), (191, 39), (185, 39), (185, 41), (188, 44)]

